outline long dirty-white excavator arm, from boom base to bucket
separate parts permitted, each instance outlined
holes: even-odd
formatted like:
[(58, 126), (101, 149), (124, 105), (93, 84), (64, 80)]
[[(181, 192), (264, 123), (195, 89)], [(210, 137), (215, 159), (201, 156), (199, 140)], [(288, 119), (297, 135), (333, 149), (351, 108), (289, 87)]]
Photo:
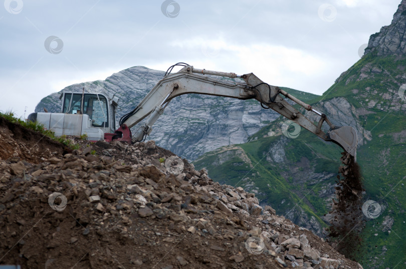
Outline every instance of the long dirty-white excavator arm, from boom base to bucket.
[[(239, 77), (241, 82), (220, 80), (216, 79), (216, 76)], [(320, 138), (337, 143), (352, 156), (356, 154), (357, 135), (354, 128), (332, 124), (325, 114), (316, 111), (309, 104), (302, 102), (279, 87), (263, 82), (255, 74), (237, 75), (235, 73), (197, 69), (191, 65), (184, 65), (176, 73), (165, 74), (164, 78), (151, 89), (144, 99), (132, 111), (120, 119), (120, 128), (116, 130), (116, 133), (106, 134), (106, 140), (117, 139), (128, 141), (128, 139), (132, 139), (132, 142), (136, 142), (145, 139), (146, 135), (152, 130), (151, 126), (163, 113), (170, 100), (186, 93), (217, 95), (244, 100), (255, 98), (261, 102), (264, 108), (269, 107), (313, 132)], [(318, 114), (320, 116), (318, 124), (314, 124), (298, 109), (290, 105), (282, 96)], [(131, 136), (129, 128), (145, 117), (147, 117), (145, 123)], [(327, 132), (323, 132), (321, 129), (324, 121), (330, 126)]]

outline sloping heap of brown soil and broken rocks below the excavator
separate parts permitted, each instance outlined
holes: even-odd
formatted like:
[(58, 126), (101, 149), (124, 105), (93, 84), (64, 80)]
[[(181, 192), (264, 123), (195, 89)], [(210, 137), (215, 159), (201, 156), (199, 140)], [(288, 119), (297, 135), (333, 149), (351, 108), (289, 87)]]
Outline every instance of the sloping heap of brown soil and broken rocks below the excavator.
[[(0, 264), (23, 268), (361, 268), (322, 238), (155, 145), (80, 148), (0, 125)], [(12, 133), (13, 133), (12, 132)], [(49, 144), (44, 141), (48, 141)], [(20, 146), (17, 146), (20, 145)], [(12, 147), (6, 147), (9, 144)]]

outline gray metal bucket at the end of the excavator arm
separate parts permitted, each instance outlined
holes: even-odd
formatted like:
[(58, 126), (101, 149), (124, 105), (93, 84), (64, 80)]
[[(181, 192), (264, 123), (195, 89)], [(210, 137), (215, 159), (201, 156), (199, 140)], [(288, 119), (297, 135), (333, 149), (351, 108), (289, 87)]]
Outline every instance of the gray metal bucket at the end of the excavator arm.
[(357, 152), (357, 131), (351, 126), (342, 126), (329, 131), (330, 138), (341, 145), (354, 158)]

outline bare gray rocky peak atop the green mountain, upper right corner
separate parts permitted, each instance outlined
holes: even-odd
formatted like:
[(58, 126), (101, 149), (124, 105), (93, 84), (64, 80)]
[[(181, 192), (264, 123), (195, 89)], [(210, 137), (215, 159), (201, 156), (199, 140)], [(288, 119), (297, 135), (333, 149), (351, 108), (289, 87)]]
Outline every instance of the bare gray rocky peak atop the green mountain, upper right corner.
[(406, 53), (406, 0), (402, 0), (393, 14), (390, 25), (369, 37), (364, 55), (373, 51), (377, 55), (403, 55)]

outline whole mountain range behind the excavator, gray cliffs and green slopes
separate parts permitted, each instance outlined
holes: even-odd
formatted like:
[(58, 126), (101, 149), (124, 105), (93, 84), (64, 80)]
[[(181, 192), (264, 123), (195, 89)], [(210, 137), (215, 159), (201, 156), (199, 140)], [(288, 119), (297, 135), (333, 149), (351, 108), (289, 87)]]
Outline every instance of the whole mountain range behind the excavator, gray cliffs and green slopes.
[[(365, 268), (405, 266), (405, 8), (403, 0), (391, 24), (370, 36), (362, 58), (321, 96), (285, 89), (325, 113), (334, 124), (357, 130), (364, 199), (376, 201), (379, 207), (375, 209), (380, 208), (376, 218), (365, 217), (363, 251), (356, 253)], [(115, 92), (124, 114), (162, 76), (162, 71), (134, 66), (89, 83)], [(59, 111), (58, 96), (45, 97), (36, 111), (43, 106)], [(302, 112), (318, 119), (312, 112)], [(342, 149), (303, 129), (296, 138), (287, 137), (281, 129), (285, 121), (254, 100), (188, 94), (171, 101), (149, 139), (194, 160), (198, 169), (206, 167), (214, 180), (243, 186), (256, 193), (261, 205), (269, 203), (278, 214), (323, 235), (332, 217), (329, 203)]]

